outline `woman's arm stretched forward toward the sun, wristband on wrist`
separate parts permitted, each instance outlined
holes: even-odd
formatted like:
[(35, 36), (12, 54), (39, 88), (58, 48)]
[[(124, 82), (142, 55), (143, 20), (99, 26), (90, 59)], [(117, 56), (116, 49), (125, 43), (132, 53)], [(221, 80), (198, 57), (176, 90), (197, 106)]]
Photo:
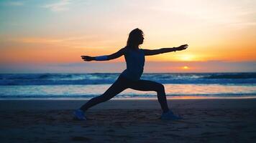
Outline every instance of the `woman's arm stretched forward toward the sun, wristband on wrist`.
[(181, 51), (184, 49), (188, 48), (188, 44), (184, 44), (178, 47), (173, 47), (173, 48), (162, 48), (162, 49), (143, 49), (144, 54), (146, 56), (150, 56), (150, 55), (155, 55), (155, 54), (163, 54), (163, 53), (168, 53), (171, 51)]

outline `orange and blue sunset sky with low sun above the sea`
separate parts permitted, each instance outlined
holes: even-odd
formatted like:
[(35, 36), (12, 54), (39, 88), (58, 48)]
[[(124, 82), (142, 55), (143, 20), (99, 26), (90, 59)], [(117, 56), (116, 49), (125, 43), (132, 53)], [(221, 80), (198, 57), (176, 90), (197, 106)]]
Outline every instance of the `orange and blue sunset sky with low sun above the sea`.
[(0, 73), (121, 72), (111, 54), (129, 31), (145, 33), (142, 49), (188, 44), (147, 56), (145, 72), (256, 71), (254, 0), (0, 1)]

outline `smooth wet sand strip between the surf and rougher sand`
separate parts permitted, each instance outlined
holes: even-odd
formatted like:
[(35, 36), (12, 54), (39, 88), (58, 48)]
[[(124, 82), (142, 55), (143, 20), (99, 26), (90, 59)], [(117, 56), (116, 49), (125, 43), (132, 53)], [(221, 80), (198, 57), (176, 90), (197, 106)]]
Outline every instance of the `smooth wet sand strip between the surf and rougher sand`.
[[(0, 111), (29, 110), (74, 110), (85, 104), (88, 99), (12, 99), (0, 100)], [(256, 109), (256, 99), (168, 99), (170, 109), (181, 108), (249, 108)], [(251, 104), (254, 103), (255, 104)], [(159, 109), (157, 99), (111, 99), (97, 104), (91, 109)]]

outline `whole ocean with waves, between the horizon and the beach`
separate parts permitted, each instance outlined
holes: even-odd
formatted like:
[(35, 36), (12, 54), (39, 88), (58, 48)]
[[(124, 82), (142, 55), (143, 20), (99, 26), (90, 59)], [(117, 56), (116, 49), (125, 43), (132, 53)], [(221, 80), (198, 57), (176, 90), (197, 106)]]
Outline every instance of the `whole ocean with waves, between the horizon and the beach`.
[[(0, 99), (91, 99), (103, 94), (119, 73), (0, 74)], [(151, 73), (168, 98), (256, 97), (256, 73)], [(157, 98), (155, 92), (127, 89), (115, 99)]]

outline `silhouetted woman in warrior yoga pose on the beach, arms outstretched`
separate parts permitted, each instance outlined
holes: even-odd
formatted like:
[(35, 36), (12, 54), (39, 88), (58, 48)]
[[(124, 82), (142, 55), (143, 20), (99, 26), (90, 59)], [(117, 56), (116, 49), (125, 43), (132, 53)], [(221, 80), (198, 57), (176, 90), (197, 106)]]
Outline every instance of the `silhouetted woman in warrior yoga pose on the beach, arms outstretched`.
[(86, 120), (86, 110), (90, 107), (93, 107), (96, 104), (101, 102), (106, 102), (107, 100), (116, 96), (120, 92), (124, 91), (124, 89), (131, 88), (140, 91), (155, 91), (157, 92), (157, 99), (161, 105), (163, 110), (163, 114), (161, 119), (181, 119), (180, 117), (173, 114), (168, 108), (168, 104), (166, 102), (165, 96), (165, 88), (163, 84), (152, 82), (148, 80), (140, 79), (143, 68), (145, 64), (145, 56), (155, 55), (155, 54), (163, 54), (171, 51), (181, 51), (183, 49), (188, 48), (187, 44), (173, 47), (173, 48), (163, 48), (163, 49), (140, 49), (139, 45), (143, 43), (143, 31), (140, 29), (134, 29), (129, 33), (129, 37), (127, 40), (127, 46), (120, 49), (114, 54), (110, 54), (107, 56), (81, 56), (84, 61), (106, 61), (111, 59), (119, 58), (124, 55), (127, 69), (125, 69), (122, 74), (116, 79), (116, 82), (106, 90), (104, 94), (101, 94), (99, 97), (94, 97), (90, 99), (86, 104), (84, 104), (80, 109), (77, 109), (74, 112), (74, 116), (79, 120)]

